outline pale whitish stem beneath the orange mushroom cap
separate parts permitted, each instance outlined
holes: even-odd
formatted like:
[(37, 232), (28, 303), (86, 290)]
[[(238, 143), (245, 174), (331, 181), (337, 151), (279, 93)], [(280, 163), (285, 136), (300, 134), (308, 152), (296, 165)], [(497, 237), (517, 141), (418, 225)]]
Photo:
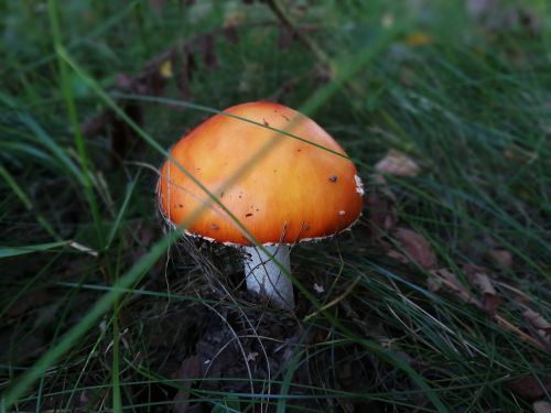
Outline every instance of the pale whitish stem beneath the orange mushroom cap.
[[(291, 250), (288, 246), (263, 247), (274, 259), (291, 273)], [(245, 247), (244, 258), (247, 289), (266, 296), (274, 307), (294, 308), (293, 283), (278, 264), (260, 248)]]

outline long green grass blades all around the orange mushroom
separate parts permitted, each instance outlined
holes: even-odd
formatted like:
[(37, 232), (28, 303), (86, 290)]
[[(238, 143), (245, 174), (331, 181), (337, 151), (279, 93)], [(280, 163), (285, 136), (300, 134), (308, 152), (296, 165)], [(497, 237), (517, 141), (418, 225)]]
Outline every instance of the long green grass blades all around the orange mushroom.
[[(287, 43), (264, 3), (151, 3), (0, 6), (4, 411), (165, 411), (176, 394), (215, 412), (519, 412), (551, 401), (550, 349), (523, 316), (531, 308), (551, 320), (543, 1), (504, 1), (476, 18), (462, 1), (285, 0), (285, 19), (305, 28), (305, 39)], [(229, 22), (237, 39), (223, 33)], [(120, 75), (137, 76), (183, 43), (190, 54), (179, 52), (162, 94), (111, 93)], [(431, 290), (425, 269), (387, 257), (367, 206), (352, 232), (294, 248), (302, 304), (291, 320), (238, 292), (235, 252), (163, 235), (154, 185), (166, 150), (213, 112), (259, 99), (324, 127), (357, 164), (368, 196), (389, 149), (415, 160), (418, 176), (387, 176), (397, 226), (429, 240), (437, 267), (478, 300), (463, 264), (483, 267), (500, 297), (496, 316), (450, 289)], [(118, 120), (83, 133), (106, 109)], [(392, 233), (385, 240), (396, 244)], [(508, 251), (512, 264), (494, 262), (494, 250)], [(247, 369), (182, 377), (182, 360), (201, 351), (212, 323), (239, 328), (233, 343), (260, 346), (264, 366), (262, 351), (287, 343), (264, 337), (269, 320), (289, 323), (295, 345), (282, 347), (284, 362), (272, 360), (268, 379)], [(541, 390), (529, 396), (518, 379)]]

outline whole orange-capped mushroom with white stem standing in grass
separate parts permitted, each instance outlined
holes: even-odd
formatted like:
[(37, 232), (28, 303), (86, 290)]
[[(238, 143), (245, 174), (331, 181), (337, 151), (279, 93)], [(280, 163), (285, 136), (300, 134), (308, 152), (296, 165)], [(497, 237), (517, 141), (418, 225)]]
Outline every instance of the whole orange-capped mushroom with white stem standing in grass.
[(294, 307), (290, 247), (332, 237), (361, 213), (361, 181), (345, 151), (312, 119), (282, 105), (233, 106), (170, 154), (156, 187), (163, 217), (186, 222), (187, 235), (242, 247), (248, 290), (279, 308)]

